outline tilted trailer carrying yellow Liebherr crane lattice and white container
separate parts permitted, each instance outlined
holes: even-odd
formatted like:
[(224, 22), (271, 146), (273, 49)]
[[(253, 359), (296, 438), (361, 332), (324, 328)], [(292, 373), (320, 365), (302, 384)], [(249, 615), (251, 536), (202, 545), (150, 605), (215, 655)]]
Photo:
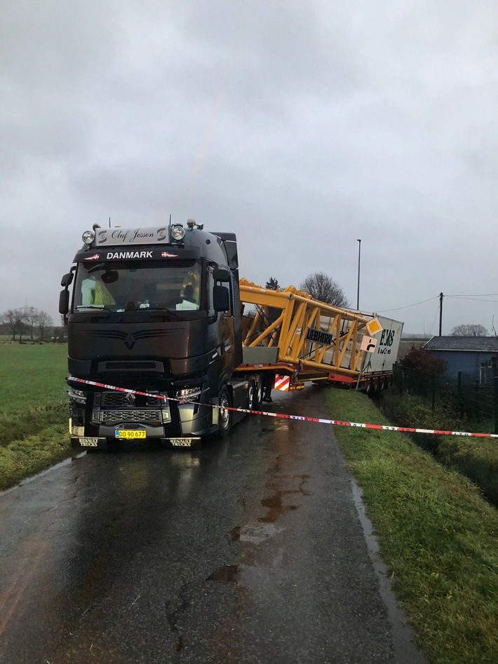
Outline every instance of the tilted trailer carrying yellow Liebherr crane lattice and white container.
[[(313, 381), (377, 392), (390, 384), (403, 323), (325, 304), (293, 286), (275, 291), (241, 279), (240, 292), (255, 310), (243, 320), (247, 363), (236, 371), (253, 366), (287, 376), (290, 389)], [(362, 350), (365, 338), (374, 348)]]

